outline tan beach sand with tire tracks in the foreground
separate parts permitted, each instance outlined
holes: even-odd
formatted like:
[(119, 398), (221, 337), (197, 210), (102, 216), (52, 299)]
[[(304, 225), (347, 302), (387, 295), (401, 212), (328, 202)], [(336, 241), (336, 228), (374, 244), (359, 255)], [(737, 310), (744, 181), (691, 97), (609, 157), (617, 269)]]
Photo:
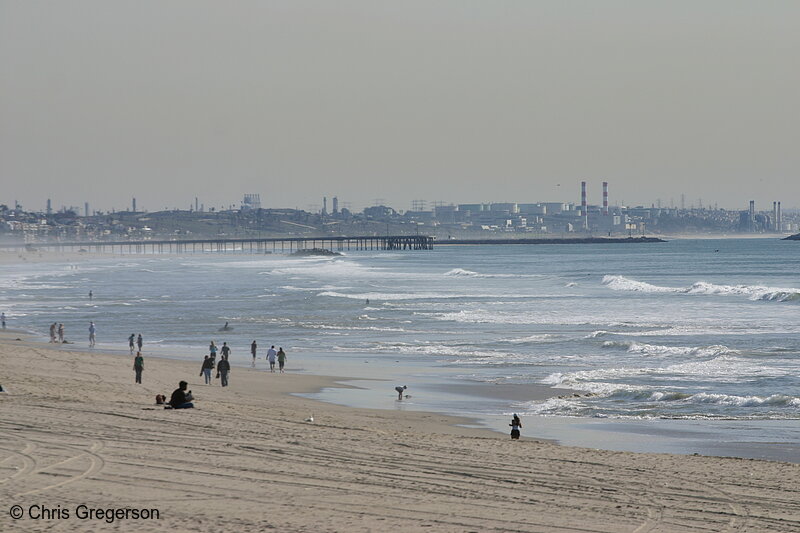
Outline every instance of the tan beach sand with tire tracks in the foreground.
[[(514, 442), (289, 394), (334, 384), (312, 375), (234, 368), (223, 389), (199, 362), (146, 358), (135, 385), (132, 358), (15, 337), (0, 337), (0, 531), (800, 531), (800, 465)], [(197, 408), (157, 409), (180, 379)]]

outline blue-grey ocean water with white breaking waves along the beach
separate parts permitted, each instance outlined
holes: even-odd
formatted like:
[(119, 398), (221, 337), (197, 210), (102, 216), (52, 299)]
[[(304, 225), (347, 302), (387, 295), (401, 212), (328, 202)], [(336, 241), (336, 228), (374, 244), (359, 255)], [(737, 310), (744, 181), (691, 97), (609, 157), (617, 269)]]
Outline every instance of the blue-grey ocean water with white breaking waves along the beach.
[[(786, 433), (800, 420), (799, 273), (800, 244), (777, 239), (113, 256), (4, 265), (0, 309), (42, 336), (63, 322), (79, 344), (93, 320), (99, 347), (123, 353), (141, 332), (146, 352), (200, 360), (213, 338), (247, 365), (257, 339), (262, 353), (283, 346), (290, 368), (408, 382), (404, 408), (498, 428), (517, 412), (561, 440), (580, 423), (630, 433), (629, 423), (686, 421), (717, 428), (709, 442), (754, 442), (758, 428), (755, 441), (780, 444), (800, 437)], [(233, 331), (218, 331), (226, 321)], [(480, 383), (519, 387), (508, 398), (453, 392)], [(394, 384), (318, 396), (396, 408)], [(529, 400), (526, 384), (579, 395)]]

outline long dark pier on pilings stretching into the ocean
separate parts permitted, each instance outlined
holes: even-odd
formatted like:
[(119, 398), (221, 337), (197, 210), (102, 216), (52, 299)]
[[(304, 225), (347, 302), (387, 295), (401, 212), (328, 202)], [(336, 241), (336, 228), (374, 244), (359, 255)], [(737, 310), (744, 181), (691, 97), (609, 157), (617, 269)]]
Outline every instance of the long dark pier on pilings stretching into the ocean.
[(189, 239), (142, 241), (86, 241), (0, 243), (0, 250), (50, 250), (130, 254), (185, 253), (292, 253), (315, 248), (331, 251), (432, 250), (435, 237), (427, 235), (369, 235), (361, 237), (285, 237), (243, 239)]

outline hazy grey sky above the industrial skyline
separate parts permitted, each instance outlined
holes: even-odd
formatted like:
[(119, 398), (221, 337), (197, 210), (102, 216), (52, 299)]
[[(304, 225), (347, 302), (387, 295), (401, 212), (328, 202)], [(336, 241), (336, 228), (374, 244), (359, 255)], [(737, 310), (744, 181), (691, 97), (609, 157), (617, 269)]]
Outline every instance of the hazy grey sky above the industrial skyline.
[[(800, 2), (0, 0), (0, 203), (800, 205)], [(329, 204), (330, 208), (330, 204)]]

